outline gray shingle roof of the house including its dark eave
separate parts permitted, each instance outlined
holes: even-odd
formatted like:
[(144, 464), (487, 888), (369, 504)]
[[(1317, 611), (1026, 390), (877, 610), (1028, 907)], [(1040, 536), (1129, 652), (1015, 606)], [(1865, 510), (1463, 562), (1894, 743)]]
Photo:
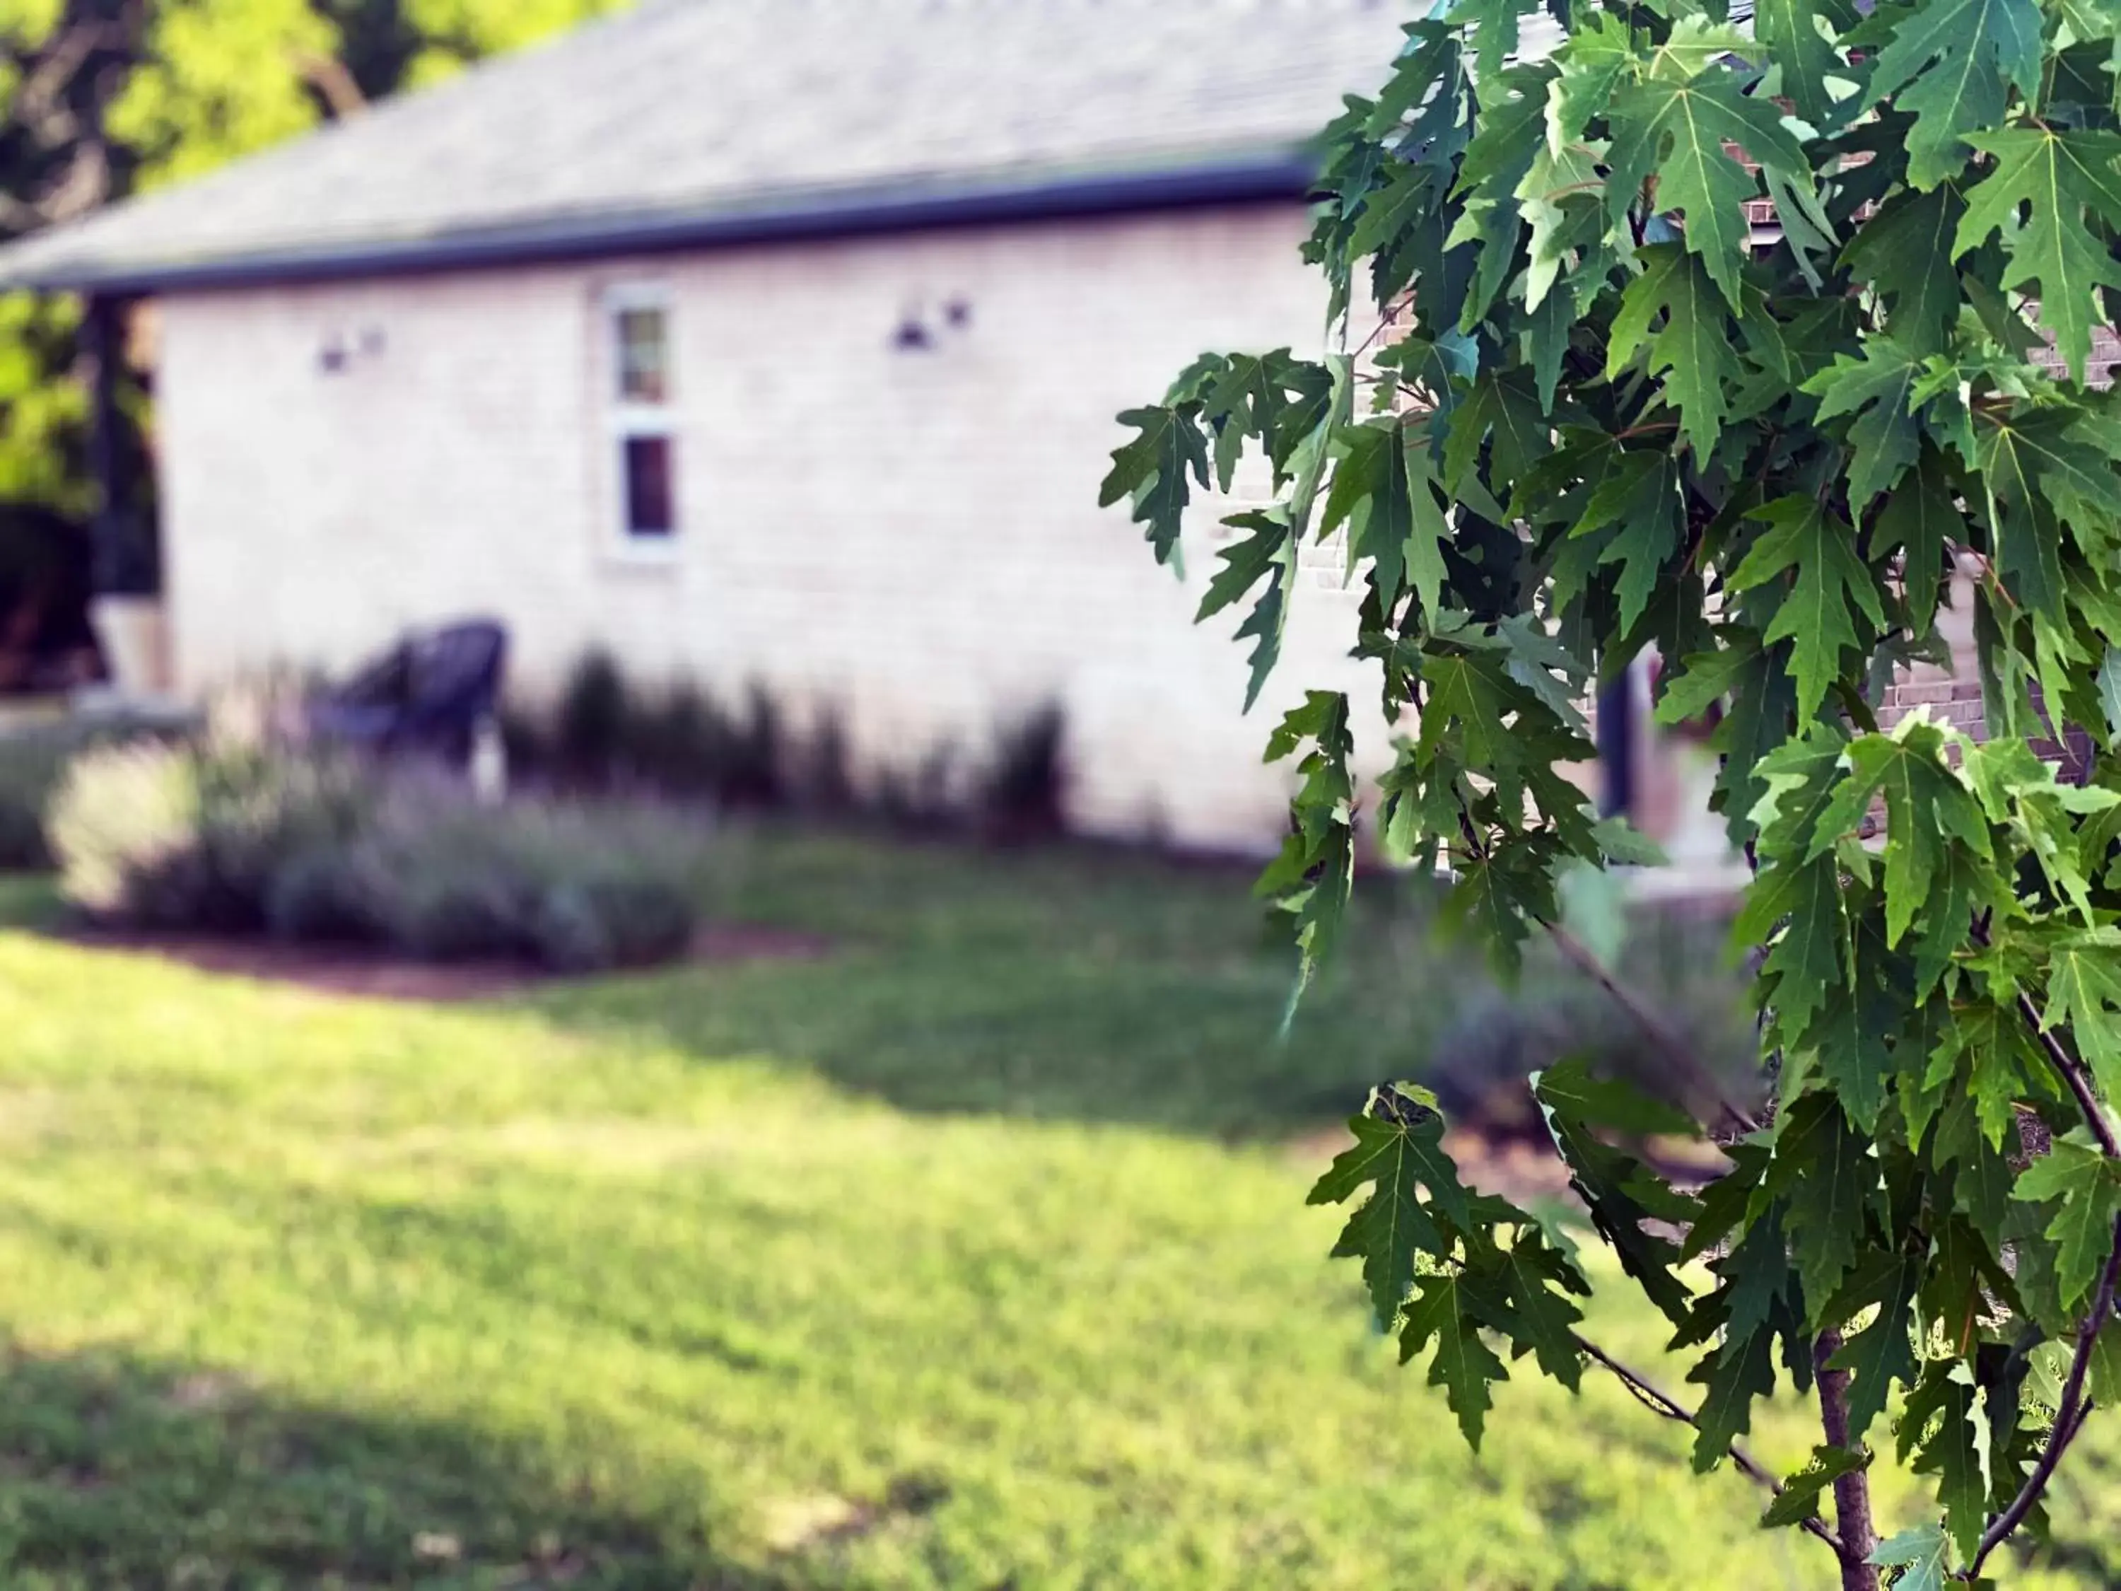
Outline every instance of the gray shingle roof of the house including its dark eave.
[(1404, 0), (658, 0), (0, 250), (155, 289), (1294, 195)]

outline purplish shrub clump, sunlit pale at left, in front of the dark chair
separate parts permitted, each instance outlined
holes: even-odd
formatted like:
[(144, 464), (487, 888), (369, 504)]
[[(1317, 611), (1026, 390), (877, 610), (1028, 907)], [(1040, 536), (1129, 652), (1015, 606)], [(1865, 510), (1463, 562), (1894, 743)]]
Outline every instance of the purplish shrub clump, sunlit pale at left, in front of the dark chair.
[(689, 944), (708, 857), (696, 819), (619, 800), (488, 808), (433, 770), (384, 774), (267, 721), (76, 759), (51, 825), (66, 895), (140, 927), (564, 972)]

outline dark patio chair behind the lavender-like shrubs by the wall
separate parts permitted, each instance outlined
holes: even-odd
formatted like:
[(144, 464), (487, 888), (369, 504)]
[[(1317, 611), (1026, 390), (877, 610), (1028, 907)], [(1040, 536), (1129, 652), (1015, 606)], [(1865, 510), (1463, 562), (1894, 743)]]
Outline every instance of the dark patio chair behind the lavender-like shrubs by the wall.
[(424, 753), (452, 764), (501, 706), (509, 634), (467, 619), (407, 634), (346, 685), (310, 702), (310, 732), (380, 755)]

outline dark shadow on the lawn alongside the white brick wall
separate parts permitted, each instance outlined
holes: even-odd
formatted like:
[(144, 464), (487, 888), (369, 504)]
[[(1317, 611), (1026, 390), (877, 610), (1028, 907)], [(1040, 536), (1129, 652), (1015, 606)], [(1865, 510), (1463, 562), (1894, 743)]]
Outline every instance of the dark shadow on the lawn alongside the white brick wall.
[(1487, 986), (1432, 944), (1427, 893), (1377, 880), (1283, 1039), (1296, 952), (1251, 868), (1094, 849), (781, 842), (734, 910), (838, 948), (547, 989), (530, 1008), (702, 1063), (785, 1061), (899, 1109), (1256, 1139), (1417, 1073), (1468, 980)]

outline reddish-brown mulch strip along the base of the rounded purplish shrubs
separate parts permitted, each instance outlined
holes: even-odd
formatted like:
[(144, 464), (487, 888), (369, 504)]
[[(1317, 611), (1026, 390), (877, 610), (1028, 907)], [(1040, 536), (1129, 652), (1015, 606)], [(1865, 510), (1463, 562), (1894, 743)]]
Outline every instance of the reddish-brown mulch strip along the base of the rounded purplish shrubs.
[[(581, 982), (583, 974), (560, 974), (532, 961), (409, 961), (367, 946), (282, 944), (208, 933), (142, 933), (127, 929), (68, 929), (55, 938), (85, 950), (146, 955), (199, 972), (257, 982), (293, 984), (327, 995), (458, 1003), (496, 999), (549, 984)], [(812, 961), (831, 946), (812, 933), (723, 923), (700, 929), (691, 952), (679, 965), (732, 961)], [(638, 972), (668, 972), (641, 967)]]

